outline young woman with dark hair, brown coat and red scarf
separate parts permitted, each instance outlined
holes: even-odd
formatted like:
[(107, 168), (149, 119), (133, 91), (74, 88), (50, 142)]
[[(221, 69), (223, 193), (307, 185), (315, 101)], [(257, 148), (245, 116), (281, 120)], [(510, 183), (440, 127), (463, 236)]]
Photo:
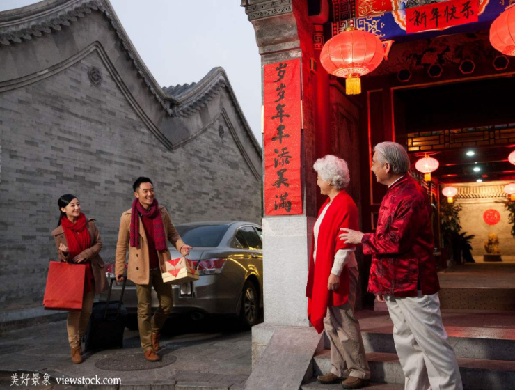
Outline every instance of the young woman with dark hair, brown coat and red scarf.
[(86, 332), (95, 293), (100, 294), (107, 288), (104, 260), (99, 256), (102, 249), (100, 233), (95, 220), (81, 213), (79, 199), (65, 194), (57, 201), (61, 215), (57, 228), (52, 231), (56, 242), (59, 260), (86, 265), (84, 297), (81, 311), (68, 313), (68, 342), (72, 349), (72, 362), (82, 363), (81, 338)]

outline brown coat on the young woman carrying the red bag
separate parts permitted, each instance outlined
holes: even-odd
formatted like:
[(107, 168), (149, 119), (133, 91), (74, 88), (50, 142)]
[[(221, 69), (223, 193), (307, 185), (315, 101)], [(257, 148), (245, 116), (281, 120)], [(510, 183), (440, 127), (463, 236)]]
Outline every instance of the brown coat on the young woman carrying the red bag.
[[(88, 263), (91, 263), (91, 270), (93, 271), (93, 277), (95, 279), (95, 293), (100, 294), (109, 288), (109, 284), (107, 283), (106, 272), (104, 269), (104, 260), (102, 260), (98, 254), (100, 253), (100, 249), (102, 249), (102, 240), (100, 239), (100, 232), (98, 231), (94, 221), (95, 219), (88, 218), (88, 223), (86, 224), (91, 236), (91, 246), (80, 254), (86, 258)], [(65, 256), (64, 253), (59, 250), (59, 244), (64, 244), (68, 247), (63, 226), (60, 225), (54, 229), (54, 231), (52, 231), (52, 235), (56, 241), (57, 256), (59, 260), (71, 263), (72, 258), (70, 257), (70, 253)]]

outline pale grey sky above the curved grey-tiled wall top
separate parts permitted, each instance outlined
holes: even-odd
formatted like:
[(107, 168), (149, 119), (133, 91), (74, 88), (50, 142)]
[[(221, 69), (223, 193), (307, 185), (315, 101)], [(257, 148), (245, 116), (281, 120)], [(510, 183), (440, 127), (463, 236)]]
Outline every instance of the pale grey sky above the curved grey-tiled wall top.
[[(38, 3), (0, 0), (0, 11)], [(116, 14), (161, 86), (199, 81), (221, 66), (261, 144), (261, 63), (240, 0), (111, 0)], [(144, 4), (144, 6), (142, 6)]]

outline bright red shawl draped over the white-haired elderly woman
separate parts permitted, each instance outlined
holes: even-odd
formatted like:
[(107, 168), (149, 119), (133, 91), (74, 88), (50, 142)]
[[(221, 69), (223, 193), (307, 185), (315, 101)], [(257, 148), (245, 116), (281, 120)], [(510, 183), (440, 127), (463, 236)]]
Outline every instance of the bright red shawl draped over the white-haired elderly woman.
[[(329, 199), (322, 205), (318, 215), (329, 203)], [(356, 203), (342, 191), (335, 196), (320, 224), (317, 239), (317, 260), (313, 261), (313, 249), (315, 236), (312, 237), (310, 267), (308, 274), (308, 318), (318, 333), (324, 330), (324, 317), (328, 306), (341, 306), (349, 299), (349, 267), (344, 266), (340, 274), (340, 287), (335, 291), (329, 291), (327, 282), (333, 268), (334, 257), (340, 249), (356, 247), (356, 245), (344, 244), (338, 238), (340, 228), (358, 230), (358, 208)]]

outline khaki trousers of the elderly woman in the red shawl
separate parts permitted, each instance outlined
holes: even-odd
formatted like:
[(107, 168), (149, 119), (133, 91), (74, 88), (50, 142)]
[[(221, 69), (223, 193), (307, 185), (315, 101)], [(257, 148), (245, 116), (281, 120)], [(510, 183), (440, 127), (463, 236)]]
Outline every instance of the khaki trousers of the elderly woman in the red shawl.
[(349, 301), (327, 308), (324, 328), (331, 341), (331, 373), (338, 377), (370, 379), (361, 329), (353, 313), (358, 276), (358, 267), (349, 268)]

